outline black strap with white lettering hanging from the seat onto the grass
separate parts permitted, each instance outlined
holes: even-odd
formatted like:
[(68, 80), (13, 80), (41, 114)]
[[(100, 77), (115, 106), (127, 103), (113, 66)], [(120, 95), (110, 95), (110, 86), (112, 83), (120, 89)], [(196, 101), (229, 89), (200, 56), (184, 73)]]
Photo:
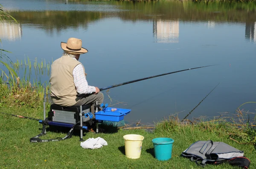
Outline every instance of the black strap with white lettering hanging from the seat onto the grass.
[(77, 122), (76, 124), (74, 124), (74, 125), (72, 126), (72, 128), (70, 129), (70, 131), (67, 133), (67, 135), (66, 135), (65, 137), (63, 137), (63, 138), (57, 137), (57, 138), (55, 138), (55, 139), (45, 139), (45, 140), (42, 140), (42, 139), (39, 138), (39, 137), (41, 137), (42, 135), (44, 135), (44, 132), (45, 132), (46, 126), (47, 126), (47, 122), (48, 122), (48, 117), (43, 121), (43, 129), (42, 129), (42, 132), (41, 132), (39, 135), (30, 138), (30, 142), (31, 142), (31, 143), (49, 142), (49, 141), (60, 141), (60, 140), (65, 140), (65, 139), (67, 139), (67, 138), (71, 138), (72, 135), (73, 135), (75, 126), (80, 123), (80, 121), (79, 121), (79, 122)]

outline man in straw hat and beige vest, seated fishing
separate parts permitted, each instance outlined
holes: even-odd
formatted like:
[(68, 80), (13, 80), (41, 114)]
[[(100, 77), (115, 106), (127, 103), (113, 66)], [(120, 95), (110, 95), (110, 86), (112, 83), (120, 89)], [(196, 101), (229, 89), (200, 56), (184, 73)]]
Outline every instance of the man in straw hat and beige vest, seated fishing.
[[(101, 104), (104, 95), (99, 92), (98, 87), (88, 86), (84, 66), (78, 61), (80, 54), (88, 51), (81, 46), (82, 41), (73, 37), (69, 38), (67, 43), (61, 42), (63, 56), (51, 66), (51, 98), (53, 103), (65, 107), (91, 104), (91, 112), (94, 115), (96, 101)], [(86, 95), (77, 97), (77, 94)]]

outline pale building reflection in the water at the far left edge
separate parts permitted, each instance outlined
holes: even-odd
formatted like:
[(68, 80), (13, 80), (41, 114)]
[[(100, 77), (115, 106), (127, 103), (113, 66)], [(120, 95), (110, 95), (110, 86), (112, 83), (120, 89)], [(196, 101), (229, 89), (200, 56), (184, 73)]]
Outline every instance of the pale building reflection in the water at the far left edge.
[(0, 39), (15, 41), (20, 40), (21, 36), (22, 29), (19, 23), (0, 22)]

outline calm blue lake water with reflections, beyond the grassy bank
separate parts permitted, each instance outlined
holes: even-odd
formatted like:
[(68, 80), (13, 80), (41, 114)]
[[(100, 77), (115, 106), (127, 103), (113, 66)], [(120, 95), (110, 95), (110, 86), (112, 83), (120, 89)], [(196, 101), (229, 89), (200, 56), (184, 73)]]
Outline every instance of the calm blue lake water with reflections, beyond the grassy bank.
[[(66, 3), (66, 4), (65, 4)], [(61, 42), (83, 41), (87, 81), (99, 88), (199, 66), (110, 89), (128, 122), (153, 123), (178, 113), (233, 114), (256, 101), (256, 4), (8, 0), (19, 24), (0, 26), (1, 49), (13, 60), (61, 57)], [(22, 75), (20, 75), (22, 77)], [(41, 81), (49, 81), (48, 76)], [(105, 93), (105, 91), (103, 91)], [(105, 93), (105, 103), (110, 99)], [(241, 109), (255, 112), (256, 104)]]

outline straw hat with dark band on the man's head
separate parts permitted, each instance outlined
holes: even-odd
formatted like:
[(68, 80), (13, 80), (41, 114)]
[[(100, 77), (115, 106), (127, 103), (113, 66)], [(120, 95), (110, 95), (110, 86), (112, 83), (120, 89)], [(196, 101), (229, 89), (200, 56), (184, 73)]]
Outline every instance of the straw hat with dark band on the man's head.
[(71, 54), (84, 54), (87, 53), (87, 49), (82, 48), (82, 40), (74, 37), (70, 37), (67, 43), (61, 42), (61, 48)]

